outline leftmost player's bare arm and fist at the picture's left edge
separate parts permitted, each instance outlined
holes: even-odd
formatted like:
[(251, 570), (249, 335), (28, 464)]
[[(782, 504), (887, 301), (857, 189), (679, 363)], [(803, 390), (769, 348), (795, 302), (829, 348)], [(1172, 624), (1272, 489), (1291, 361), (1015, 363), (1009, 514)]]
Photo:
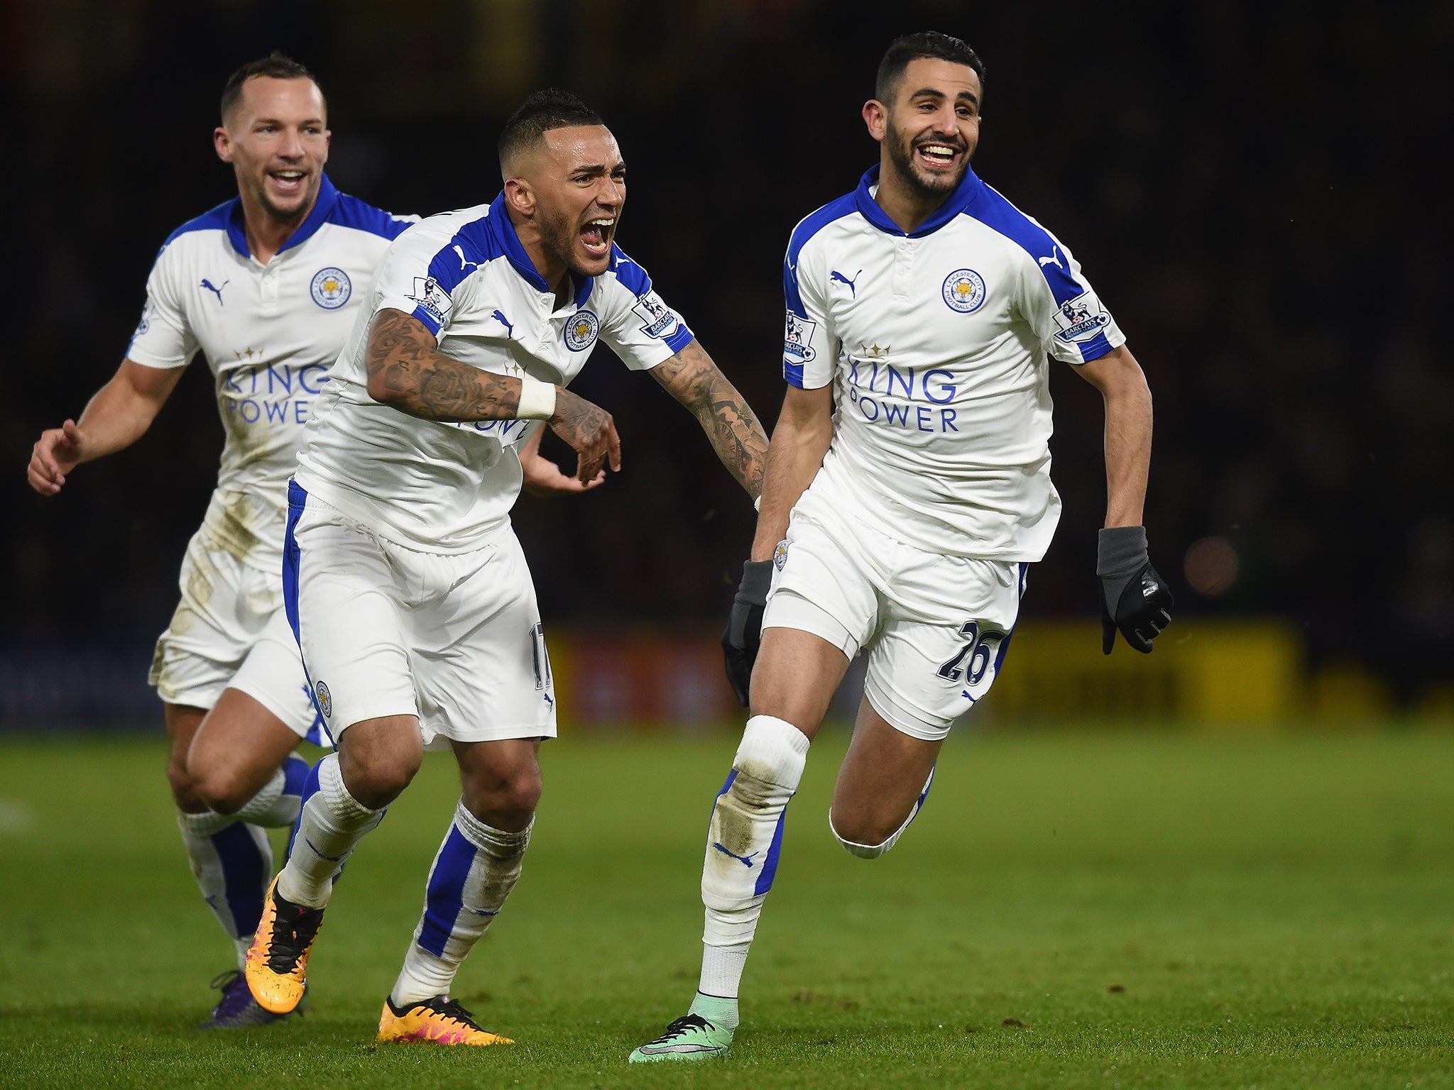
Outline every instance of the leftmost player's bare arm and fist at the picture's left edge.
[(41, 496), (55, 496), (81, 462), (105, 458), (141, 439), (176, 389), (183, 368), (148, 368), (124, 359), (96, 391), (80, 420), (41, 432), (31, 448), (26, 480)]

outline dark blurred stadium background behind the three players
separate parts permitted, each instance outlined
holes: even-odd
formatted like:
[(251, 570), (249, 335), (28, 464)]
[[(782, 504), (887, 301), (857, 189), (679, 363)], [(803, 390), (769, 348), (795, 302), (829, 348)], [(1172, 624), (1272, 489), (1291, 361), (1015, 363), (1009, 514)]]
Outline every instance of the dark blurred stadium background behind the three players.
[[(858, 113), (878, 58), (932, 28), (989, 68), (976, 170), (1070, 246), (1149, 375), (1146, 523), (1179, 616), (1285, 618), (1313, 667), (1351, 664), (1390, 706), (1439, 699), (1454, 651), (1454, 379), (1438, 355), (1454, 6), (1312, 10), (12, 0), (0, 185), (22, 310), (3, 347), (0, 689), (55, 663), (144, 669), (174, 606), (222, 442), (201, 359), (142, 442), (61, 497), (31, 493), (23, 467), (115, 371), (161, 240), (234, 195), (209, 134), (236, 65), (273, 48), (310, 65), (330, 176), (397, 212), (489, 201), (503, 118), (544, 84), (580, 93), (631, 169), (621, 244), (771, 426), (788, 233), (875, 161)], [(750, 539), (746, 497), (695, 421), (605, 347), (574, 388), (615, 414), (625, 471), (518, 507), (548, 631), (717, 623)], [(1066, 509), (1025, 610), (1089, 616), (1104, 417), (1069, 368), (1054, 365), (1053, 391)]]

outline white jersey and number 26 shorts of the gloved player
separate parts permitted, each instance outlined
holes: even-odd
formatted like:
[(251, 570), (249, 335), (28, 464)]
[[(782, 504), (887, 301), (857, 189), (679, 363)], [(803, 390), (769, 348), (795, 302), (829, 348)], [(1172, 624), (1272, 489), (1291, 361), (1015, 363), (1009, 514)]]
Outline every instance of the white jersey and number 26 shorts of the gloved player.
[(833, 384), (833, 440), (778, 548), (763, 628), (871, 648), (865, 693), (942, 738), (989, 690), (1050, 545), (1047, 355), (1125, 337), (1066, 247), (968, 170), (906, 234), (878, 167), (797, 225), (784, 376)]

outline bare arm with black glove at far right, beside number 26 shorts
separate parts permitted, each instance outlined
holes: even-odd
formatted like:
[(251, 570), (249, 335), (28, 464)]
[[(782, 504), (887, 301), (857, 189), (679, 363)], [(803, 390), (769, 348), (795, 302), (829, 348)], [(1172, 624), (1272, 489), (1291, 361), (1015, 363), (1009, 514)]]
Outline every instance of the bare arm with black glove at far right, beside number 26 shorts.
[(1101, 650), (1111, 654), (1117, 631), (1137, 651), (1172, 621), (1172, 593), (1152, 567), (1141, 510), (1152, 465), (1152, 391), (1122, 344), (1077, 368), (1105, 401), (1105, 529), (1096, 548), (1101, 577)]

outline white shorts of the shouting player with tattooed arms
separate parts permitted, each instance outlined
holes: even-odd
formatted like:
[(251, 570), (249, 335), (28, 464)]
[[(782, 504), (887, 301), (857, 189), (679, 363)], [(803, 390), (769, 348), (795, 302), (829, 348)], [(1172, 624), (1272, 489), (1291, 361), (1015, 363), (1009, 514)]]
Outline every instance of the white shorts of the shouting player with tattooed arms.
[(284, 593), (333, 737), (385, 715), (416, 716), (429, 748), (555, 737), (535, 586), (509, 528), (473, 552), (420, 552), (289, 483)]

